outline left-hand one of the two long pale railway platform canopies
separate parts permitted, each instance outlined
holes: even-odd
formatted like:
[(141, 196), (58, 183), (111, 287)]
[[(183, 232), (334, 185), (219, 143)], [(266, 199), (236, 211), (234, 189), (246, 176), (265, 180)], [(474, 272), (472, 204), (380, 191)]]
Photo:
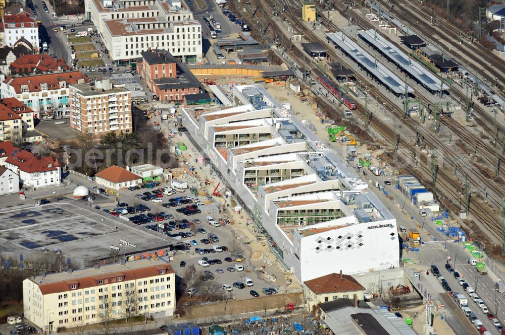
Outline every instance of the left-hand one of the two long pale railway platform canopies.
[[(354, 59), (360, 66), (372, 74), (382, 85), (396, 95), (405, 94), (407, 84), (392, 73), (384, 64), (377, 61), (371, 54), (360, 47), (350, 37), (342, 32), (325, 33), (326, 37), (338, 46), (344, 53)], [(407, 86), (407, 92), (413, 93), (414, 89)]]

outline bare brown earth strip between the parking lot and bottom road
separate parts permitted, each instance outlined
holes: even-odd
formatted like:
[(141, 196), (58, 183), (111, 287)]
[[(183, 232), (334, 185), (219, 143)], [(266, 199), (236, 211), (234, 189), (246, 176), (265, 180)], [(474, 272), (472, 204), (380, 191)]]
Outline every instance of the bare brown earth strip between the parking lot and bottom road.
[(303, 293), (273, 294), (270, 296), (262, 295), (258, 298), (247, 300), (228, 299), (226, 302), (226, 313), (223, 313), (223, 301), (218, 301), (213, 304), (203, 306), (185, 307), (184, 311), (186, 313), (181, 318), (196, 319), (224, 314), (241, 314), (260, 311), (264, 312), (269, 309), (284, 308), (284, 306), (286, 306), (288, 303), (299, 305), (303, 302)]

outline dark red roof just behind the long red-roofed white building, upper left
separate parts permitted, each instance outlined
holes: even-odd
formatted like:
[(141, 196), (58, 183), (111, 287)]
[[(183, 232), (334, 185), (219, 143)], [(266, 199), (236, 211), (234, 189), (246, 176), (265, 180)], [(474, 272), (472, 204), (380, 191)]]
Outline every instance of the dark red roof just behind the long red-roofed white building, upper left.
[(70, 70), (71, 67), (65, 63), (63, 58), (53, 58), (46, 53), (26, 54), (16, 59), (9, 66), (12, 73), (33, 73)]

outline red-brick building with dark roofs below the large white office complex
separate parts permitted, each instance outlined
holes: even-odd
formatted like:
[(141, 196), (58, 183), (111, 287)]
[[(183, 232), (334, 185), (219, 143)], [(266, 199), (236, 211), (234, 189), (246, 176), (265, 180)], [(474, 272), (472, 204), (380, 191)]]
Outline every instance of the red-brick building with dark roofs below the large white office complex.
[(142, 81), (159, 100), (182, 101), (186, 94), (200, 93), (203, 86), (185, 64), (167, 50), (141, 52), (137, 70)]

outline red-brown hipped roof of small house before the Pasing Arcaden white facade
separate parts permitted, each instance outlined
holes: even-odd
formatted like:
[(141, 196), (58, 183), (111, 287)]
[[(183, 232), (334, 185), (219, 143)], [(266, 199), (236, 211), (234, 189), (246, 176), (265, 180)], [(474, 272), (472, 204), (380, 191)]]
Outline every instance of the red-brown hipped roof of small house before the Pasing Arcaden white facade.
[(329, 274), (304, 284), (316, 294), (363, 291), (365, 288), (349, 275)]

